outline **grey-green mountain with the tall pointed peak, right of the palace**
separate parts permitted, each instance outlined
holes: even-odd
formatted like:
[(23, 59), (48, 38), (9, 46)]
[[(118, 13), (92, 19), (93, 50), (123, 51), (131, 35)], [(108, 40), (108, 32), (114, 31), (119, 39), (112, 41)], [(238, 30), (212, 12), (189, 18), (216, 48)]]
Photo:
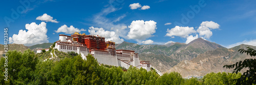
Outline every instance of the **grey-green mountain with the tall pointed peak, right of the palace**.
[(135, 50), (143, 61), (150, 61), (152, 66), (161, 72), (174, 67), (183, 60), (197, 58), (201, 53), (223, 46), (206, 41), (202, 38), (195, 39), (188, 44), (169, 43), (166, 45), (138, 45), (135, 43), (123, 42), (116, 45), (116, 49)]

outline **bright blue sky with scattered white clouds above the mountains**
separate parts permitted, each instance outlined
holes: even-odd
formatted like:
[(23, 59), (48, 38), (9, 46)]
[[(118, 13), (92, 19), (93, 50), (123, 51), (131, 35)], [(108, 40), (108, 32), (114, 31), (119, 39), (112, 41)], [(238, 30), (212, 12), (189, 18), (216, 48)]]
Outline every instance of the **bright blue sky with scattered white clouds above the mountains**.
[[(0, 27), (9, 28), (11, 43), (53, 43), (59, 34), (80, 32), (117, 43), (189, 43), (204, 38), (228, 48), (256, 46), (253, 0), (21, 1), (26, 3), (1, 1), (0, 5)], [(4, 44), (4, 37), (1, 40)]]

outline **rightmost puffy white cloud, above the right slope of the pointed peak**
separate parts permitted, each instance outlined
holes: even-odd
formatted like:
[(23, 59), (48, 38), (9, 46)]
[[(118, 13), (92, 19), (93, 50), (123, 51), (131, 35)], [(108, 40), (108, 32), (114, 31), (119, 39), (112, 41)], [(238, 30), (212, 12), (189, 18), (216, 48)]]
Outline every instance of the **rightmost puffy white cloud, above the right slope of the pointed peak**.
[(202, 38), (209, 39), (212, 36), (212, 29), (219, 29), (220, 25), (213, 21), (203, 21), (198, 27), (197, 32)]

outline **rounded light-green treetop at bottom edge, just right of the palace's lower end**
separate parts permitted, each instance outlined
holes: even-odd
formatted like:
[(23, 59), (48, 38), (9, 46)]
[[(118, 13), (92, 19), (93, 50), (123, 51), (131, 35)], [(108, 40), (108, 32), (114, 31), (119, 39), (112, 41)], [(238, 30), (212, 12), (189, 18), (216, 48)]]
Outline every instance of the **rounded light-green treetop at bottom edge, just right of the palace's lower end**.
[(178, 72), (164, 73), (156, 80), (156, 84), (183, 84), (184, 79)]

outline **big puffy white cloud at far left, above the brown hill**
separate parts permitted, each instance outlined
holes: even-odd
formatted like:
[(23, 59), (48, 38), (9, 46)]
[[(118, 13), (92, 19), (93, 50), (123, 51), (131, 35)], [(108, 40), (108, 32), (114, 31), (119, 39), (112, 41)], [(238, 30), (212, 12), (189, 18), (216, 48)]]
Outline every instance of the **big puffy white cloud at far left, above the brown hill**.
[(38, 25), (35, 22), (32, 22), (26, 24), (25, 27), (28, 30), (27, 32), (25, 30), (19, 30), (18, 35), (13, 34), (12, 37), (9, 37), (9, 42), (24, 44), (26, 46), (49, 42), (46, 35), (47, 29), (45, 22), (41, 22)]

